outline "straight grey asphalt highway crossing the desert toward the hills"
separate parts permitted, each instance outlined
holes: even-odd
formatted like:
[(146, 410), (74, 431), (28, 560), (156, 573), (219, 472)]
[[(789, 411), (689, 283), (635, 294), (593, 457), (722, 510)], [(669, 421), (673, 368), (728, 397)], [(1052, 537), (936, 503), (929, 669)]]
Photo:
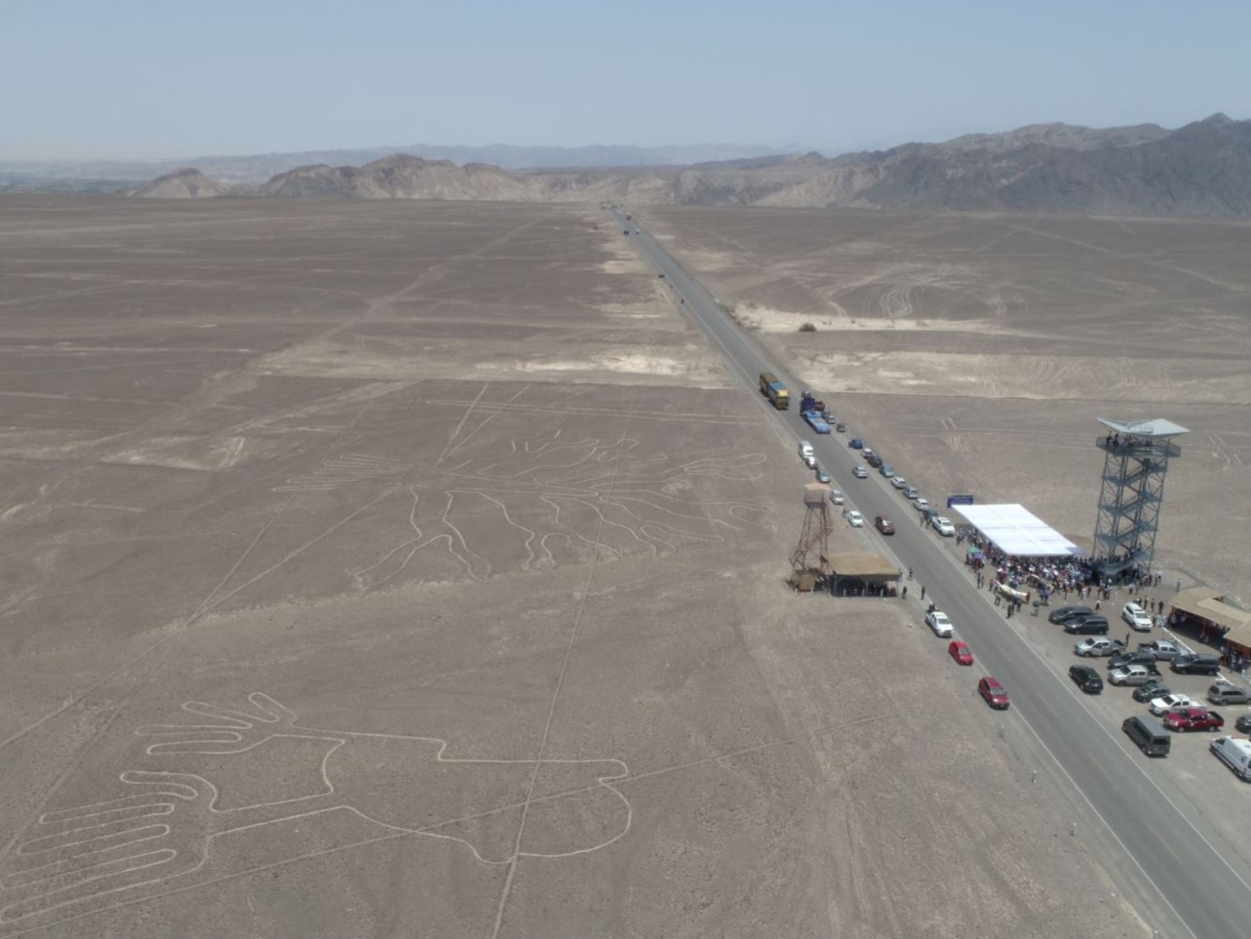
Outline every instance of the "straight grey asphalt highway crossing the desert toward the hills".
[[(818, 435), (802, 420), (797, 405), (802, 384), (781, 363), (771, 361), (756, 341), (721, 309), (698, 281), (689, 276), (657, 241), (626, 213), (610, 209), (622, 230), (643, 256), (668, 280), (677, 301), (723, 353), (729, 369), (749, 388), (758, 389), (761, 371), (772, 371), (792, 394), (792, 410), (771, 414), (784, 436), (797, 445), (813, 444), (817, 460), (859, 509), (871, 526), (876, 515), (896, 523), (897, 534), (882, 538), (863, 529), (872, 550), (893, 556), (899, 568), (913, 570), (909, 596), (919, 600), (921, 586), (956, 624), (958, 636), (973, 648), (980, 666), (998, 678), (1012, 708), (1001, 718), (1001, 734), (1013, 750), (1036, 766), (1043, 784), (1055, 786), (1057, 801), (1073, 820), (1073, 838), (1091, 850), (1108, 870), (1121, 896), (1162, 936), (1200, 939), (1251, 935), (1251, 886), (1153, 781), (1153, 766), (1120, 728), (1095, 716), (1080, 693), (1043, 661), (1021, 635), (1005, 623), (1003, 609), (978, 591), (937, 534), (922, 529), (917, 513), (869, 469), (868, 479), (856, 479), (852, 468), (858, 451), (847, 446), (848, 435)], [(763, 401), (763, 399), (762, 399)], [(838, 415), (837, 399), (826, 396)], [(889, 439), (866, 438), (889, 463)], [(796, 456), (798, 459), (798, 455)], [(907, 466), (896, 466), (907, 476)], [(919, 606), (917, 616), (921, 618)], [(1028, 628), (1056, 629), (1045, 619)], [(1016, 623), (1016, 618), (1013, 618)], [(1020, 623), (1017, 623), (1020, 626)], [(936, 668), (946, 658), (946, 643), (936, 641)], [(977, 675), (970, 678), (970, 706), (986, 706), (973, 696)], [(919, 705), (919, 703), (918, 703)], [(976, 806), (965, 806), (976, 810)], [(958, 874), (953, 874), (958, 876)], [(1097, 889), (1092, 885), (1092, 889)]]

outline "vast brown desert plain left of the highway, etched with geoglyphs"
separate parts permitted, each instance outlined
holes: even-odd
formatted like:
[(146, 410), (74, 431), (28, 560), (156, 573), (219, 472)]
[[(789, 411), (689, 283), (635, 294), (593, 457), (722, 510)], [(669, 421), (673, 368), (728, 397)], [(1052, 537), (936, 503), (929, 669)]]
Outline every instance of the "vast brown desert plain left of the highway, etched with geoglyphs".
[(1143, 934), (595, 214), (3, 209), (0, 935)]

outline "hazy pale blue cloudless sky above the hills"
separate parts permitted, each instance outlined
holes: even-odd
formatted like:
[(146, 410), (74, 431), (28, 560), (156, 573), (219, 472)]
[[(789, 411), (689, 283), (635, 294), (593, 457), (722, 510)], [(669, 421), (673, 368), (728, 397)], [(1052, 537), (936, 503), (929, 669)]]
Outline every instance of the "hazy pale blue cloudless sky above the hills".
[(1251, 3), (0, 0), (0, 158), (1251, 116)]

